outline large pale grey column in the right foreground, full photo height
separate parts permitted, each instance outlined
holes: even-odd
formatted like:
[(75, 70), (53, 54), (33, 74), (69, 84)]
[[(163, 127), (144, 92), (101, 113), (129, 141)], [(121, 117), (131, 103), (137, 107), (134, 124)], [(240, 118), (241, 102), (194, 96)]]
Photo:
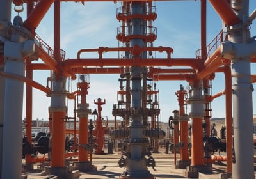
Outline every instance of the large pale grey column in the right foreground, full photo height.
[[(249, 0), (232, 0), (232, 7), (242, 23), (248, 20)], [(247, 28), (230, 31), (229, 40), (242, 44), (236, 49), (240, 54), (248, 47), (250, 31)], [(243, 45), (244, 44), (244, 45)], [(250, 54), (232, 59), (234, 153), (232, 178), (255, 178), (253, 164), (253, 109)]]

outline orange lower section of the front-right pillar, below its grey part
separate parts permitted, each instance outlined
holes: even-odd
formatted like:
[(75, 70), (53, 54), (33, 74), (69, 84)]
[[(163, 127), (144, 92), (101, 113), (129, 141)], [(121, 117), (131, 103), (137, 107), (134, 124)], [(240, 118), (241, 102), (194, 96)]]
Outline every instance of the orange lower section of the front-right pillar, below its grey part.
[(202, 118), (192, 119), (192, 136), (191, 136), (191, 166), (202, 166), (203, 162), (203, 129)]

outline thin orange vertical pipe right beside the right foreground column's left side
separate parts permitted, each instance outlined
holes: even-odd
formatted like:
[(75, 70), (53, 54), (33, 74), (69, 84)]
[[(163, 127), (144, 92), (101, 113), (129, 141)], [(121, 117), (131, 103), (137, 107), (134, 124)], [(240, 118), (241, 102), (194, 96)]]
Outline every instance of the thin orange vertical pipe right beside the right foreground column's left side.
[(232, 77), (230, 66), (224, 66), (225, 92), (226, 92), (226, 147), (227, 147), (227, 172), (232, 173)]

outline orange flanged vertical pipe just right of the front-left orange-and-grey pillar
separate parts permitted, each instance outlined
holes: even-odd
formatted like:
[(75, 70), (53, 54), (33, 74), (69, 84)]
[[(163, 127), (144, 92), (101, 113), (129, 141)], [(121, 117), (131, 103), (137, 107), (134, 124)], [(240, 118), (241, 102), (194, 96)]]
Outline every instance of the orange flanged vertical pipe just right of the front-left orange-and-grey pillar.
[[(86, 107), (86, 95), (88, 94), (89, 84), (84, 80), (77, 83), (77, 87), (81, 89), (81, 106)], [(87, 107), (86, 107), (87, 110)], [(80, 114), (79, 114), (80, 115)], [(79, 118), (79, 144), (85, 146), (88, 144), (88, 115), (82, 115)], [(88, 151), (83, 147), (78, 150), (78, 162), (88, 162)]]

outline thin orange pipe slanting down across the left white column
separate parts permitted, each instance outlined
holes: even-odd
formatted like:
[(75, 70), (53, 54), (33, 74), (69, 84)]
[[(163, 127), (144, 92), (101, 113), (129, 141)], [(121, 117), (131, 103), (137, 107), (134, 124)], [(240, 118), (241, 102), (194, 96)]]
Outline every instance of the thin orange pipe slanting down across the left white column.
[(39, 83), (37, 83), (37, 82), (27, 78), (27, 77), (23, 77), (23, 76), (16, 75), (16, 74), (8, 74), (6, 72), (0, 72), (0, 76), (10, 77), (12, 79), (17, 79), (19, 81), (26, 82), (27, 85), (32, 86), (36, 89), (39, 89), (40, 91), (44, 91), (45, 93), (50, 93), (51, 92), (51, 89), (46, 88), (46, 87), (42, 86), (41, 84), (39, 84)]

